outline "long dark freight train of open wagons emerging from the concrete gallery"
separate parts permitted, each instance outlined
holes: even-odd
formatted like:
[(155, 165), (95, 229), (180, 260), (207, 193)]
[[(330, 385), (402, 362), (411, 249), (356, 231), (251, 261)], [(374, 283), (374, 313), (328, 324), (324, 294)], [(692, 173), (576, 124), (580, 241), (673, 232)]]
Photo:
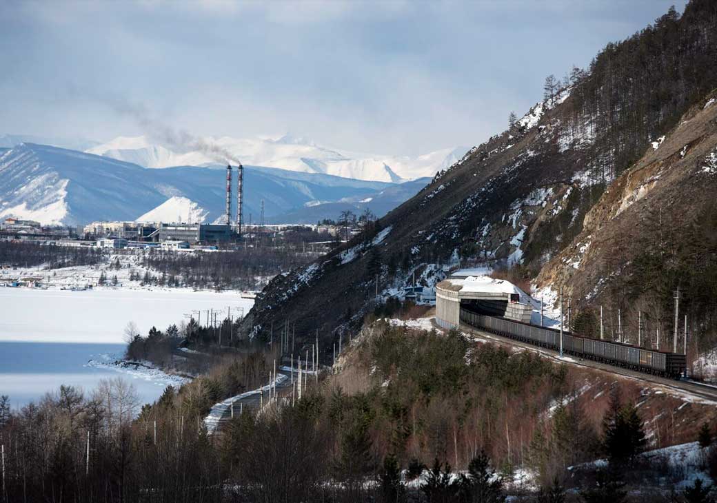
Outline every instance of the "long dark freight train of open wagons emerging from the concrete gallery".
[[(486, 316), (479, 312), (460, 309), (460, 321), (471, 327), (492, 332), (503, 337), (528, 342), (529, 344), (560, 350), (560, 331), (526, 323)], [(620, 342), (580, 337), (563, 332), (563, 352), (579, 358), (595, 360), (617, 367), (630, 368), (640, 372), (679, 379), (685, 373), (685, 355), (665, 351), (636, 348)]]

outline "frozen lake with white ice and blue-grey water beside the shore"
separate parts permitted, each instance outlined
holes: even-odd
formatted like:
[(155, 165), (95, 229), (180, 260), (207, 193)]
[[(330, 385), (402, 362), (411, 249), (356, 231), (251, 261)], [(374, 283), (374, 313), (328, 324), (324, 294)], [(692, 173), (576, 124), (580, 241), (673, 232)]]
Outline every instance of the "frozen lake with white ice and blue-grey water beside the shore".
[[(122, 376), (138, 389), (142, 402), (161, 395), (166, 382), (85, 366), (102, 355), (121, 354), (128, 322), (143, 333), (179, 325), (184, 314), (206, 310), (226, 315), (248, 312), (253, 300), (237, 293), (146, 290), (69, 292), (0, 288), (0, 394), (13, 408), (37, 400), (60, 384), (91, 392), (102, 378)], [(219, 316), (217, 317), (219, 318)]]

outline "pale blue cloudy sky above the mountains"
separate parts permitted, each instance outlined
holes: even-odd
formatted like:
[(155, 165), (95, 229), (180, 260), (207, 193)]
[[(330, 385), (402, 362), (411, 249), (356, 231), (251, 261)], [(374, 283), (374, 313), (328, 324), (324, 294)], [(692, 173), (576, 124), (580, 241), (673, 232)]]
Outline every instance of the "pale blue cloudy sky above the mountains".
[(0, 1), (0, 134), (478, 145), (684, 0)]

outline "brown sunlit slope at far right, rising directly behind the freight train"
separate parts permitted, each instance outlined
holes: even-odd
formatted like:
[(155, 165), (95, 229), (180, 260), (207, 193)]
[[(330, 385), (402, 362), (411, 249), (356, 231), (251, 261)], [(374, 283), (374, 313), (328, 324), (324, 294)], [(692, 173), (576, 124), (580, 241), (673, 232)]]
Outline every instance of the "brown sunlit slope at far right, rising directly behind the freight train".
[[(610, 335), (618, 312), (625, 338), (673, 349), (674, 291), (688, 317), (688, 361), (715, 346), (717, 310), (717, 92), (619, 176), (584, 219), (571, 246), (538, 275), (538, 287), (564, 285), (576, 329), (596, 334), (599, 307)], [(638, 315), (638, 312), (640, 314)], [(638, 320), (638, 317), (640, 320)], [(678, 350), (683, 341), (678, 340)]]

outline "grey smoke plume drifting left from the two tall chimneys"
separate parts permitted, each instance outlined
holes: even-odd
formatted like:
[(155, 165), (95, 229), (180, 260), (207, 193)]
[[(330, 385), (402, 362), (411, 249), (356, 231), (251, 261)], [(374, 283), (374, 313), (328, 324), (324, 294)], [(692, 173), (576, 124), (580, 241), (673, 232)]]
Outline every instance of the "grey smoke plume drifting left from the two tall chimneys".
[(132, 103), (118, 97), (113, 97), (108, 103), (118, 114), (133, 118), (146, 135), (162, 145), (180, 151), (199, 150), (222, 164), (240, 163), (239, 159), (226, 148), (199, 138), (187, 130), (176, 130), (161, 120), (153, 118), (147, 107), (141, 103)]

